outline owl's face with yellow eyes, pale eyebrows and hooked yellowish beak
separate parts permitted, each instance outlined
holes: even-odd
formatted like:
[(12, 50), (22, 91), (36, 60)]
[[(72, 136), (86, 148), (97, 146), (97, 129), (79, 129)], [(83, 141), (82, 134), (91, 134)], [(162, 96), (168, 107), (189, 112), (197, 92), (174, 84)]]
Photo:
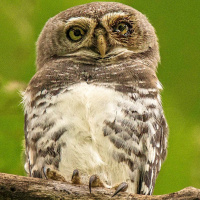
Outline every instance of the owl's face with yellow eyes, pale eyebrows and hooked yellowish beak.
[(134, 15), (122, 11), (105, 14), (100, 19), (72, 17), (67, 20), (65, 29), (68, 49), (61, 56), (84, 51), (88, 52), (84, 55), (88, 58), (105, 60), (110, 55), (122, 54), (124, 49), (134, 53), (144, 52), (149, 44), (137, 23)]

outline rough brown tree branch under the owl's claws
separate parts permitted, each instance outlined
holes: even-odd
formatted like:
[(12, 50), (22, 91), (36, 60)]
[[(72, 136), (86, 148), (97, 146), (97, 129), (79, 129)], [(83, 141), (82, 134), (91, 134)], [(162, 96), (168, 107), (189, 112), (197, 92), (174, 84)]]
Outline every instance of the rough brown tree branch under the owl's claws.
[[(87, 185), (73, 185), (68, 182), (44, 180), (32, 177), (17, 176), (0, 173), (0, 199), (20, 200), (66, 200), (66, 199), (110, 199), (114, 190), (106, 188), (93, 188), (89, 193)], [(200, 189), (187, 187), (181, 191), (146, 196), (138, 194), (120, 193), (113, 199), (128, 200), (160, 200), (160, 199), (200, 199)]]

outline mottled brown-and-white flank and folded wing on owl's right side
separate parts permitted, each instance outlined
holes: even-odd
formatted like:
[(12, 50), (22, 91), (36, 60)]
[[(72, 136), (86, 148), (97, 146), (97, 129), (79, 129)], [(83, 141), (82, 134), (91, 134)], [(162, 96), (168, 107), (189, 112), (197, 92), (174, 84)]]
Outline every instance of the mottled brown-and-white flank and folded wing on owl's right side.
[(119, 105), (116, 119), (105, 121), (104, 136), (115, 146), (113, 158), (128, 166), (133, 192), (150, 195), (166, 157), (168, 130), (161, 104), (148, 102), (135, 99), (132, 105), (137, 106)]

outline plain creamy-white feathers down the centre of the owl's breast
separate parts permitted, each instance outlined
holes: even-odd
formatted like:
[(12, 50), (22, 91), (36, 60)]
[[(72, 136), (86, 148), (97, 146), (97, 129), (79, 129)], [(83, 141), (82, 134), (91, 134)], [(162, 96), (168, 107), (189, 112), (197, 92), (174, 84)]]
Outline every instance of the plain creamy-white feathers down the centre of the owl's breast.
[[(114, 176), (110, 171), (115, 170), (116, 176), (120, 164), (114, 166), (110, 160), (114, 145), (104, 137), (103, 127), (105, 120), (115, 120), (119, 113), (117, 105), (122, 100), (119, 92), (86, 83), (74, 85), (56, 98), (53, 112), (61, 116), (58, 126), (64, 123), (67, 128), (61, 138), (66, 147), (62, 148), (59, 170), (68, 180), (74, 169), (79, 169), (86, 183), (93, 174), (108, 181), (109, 176)], [(124, 168), (126, 166), (122, 166), (121, 174), (127, 177)]]

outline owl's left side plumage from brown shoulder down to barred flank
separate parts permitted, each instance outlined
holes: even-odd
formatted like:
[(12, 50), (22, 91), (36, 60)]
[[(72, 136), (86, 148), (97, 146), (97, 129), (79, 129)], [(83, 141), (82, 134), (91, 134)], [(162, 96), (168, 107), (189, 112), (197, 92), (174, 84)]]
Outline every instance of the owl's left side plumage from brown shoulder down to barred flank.
[[(56, 126), (54, 116), (56, 102), (53, 98), (66, 92), (66, 83), (72, 84), (69, 73), (62, 72), (57, 66), (46, 66), (31, 79), (23, 94), (25, 110), (25, 170), (33, 177), (44, 177), (43, 167), (50, 165), (58, 168), (62, 143), (57, 142), (65, 128)], [(70, 67), (69, 67), (70, 71)], [(78, 82), (78, 81), (77, 81)], [(56, 128), (55, 128), (56, 127)]]

